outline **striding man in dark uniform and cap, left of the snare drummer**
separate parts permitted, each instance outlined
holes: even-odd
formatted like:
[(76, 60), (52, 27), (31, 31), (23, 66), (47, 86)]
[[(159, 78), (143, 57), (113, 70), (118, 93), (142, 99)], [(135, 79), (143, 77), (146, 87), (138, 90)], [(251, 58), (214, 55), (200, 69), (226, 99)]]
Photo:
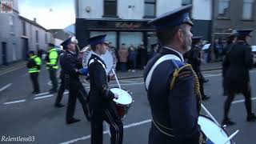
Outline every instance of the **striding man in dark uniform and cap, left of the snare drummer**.
[(75, 38), (70, 37), (66, 41), (62, 42), (62, 46), (66, 47), (66, 52), (62, 59), (62, 72), (64, 75), (64, 82), (66, 89), (70, 90), (69, 100), (66, 110), (66, 123), (71, 124), (79, 122), (79, 119), (74, 118), (74, 110), (77, 98), (82, 104), (82, 110), (86, 115), (87, 121), (90, 121), (90, 110), (88, 106), (88, 95), (85, 88), (82, 86), (82, 82), (79, 80), (79, 75), (86, 75), (87, 70), (85, 68), (78, 69), (78, 58), (75, 54)]

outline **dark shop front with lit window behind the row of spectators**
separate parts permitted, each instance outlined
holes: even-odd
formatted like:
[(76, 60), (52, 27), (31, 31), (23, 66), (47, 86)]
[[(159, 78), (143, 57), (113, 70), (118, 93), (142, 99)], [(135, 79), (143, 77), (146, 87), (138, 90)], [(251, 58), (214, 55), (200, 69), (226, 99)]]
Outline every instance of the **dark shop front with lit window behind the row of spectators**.
[(137, 48), (142, 42), (150, 51), (150, 46), (157, 42), (154, 27), (147, 25), (145, 20), (102, 20), (102, 19), (76, 19), (76, 37), (79, 45), (87, 45), (86, 39), (107, 34), (106, 40), (111, 42), (117, 50), (122, 45)]

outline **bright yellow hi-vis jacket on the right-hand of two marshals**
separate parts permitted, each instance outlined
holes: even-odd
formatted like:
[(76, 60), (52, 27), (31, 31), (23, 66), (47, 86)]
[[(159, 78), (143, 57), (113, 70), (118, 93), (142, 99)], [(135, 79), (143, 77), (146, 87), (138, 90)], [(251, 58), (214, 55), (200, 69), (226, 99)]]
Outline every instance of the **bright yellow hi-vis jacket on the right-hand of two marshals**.
[(54, 48), (48, 50), (48, 62), (46, 62), (46, 69), (58, 69), (58, 52)]

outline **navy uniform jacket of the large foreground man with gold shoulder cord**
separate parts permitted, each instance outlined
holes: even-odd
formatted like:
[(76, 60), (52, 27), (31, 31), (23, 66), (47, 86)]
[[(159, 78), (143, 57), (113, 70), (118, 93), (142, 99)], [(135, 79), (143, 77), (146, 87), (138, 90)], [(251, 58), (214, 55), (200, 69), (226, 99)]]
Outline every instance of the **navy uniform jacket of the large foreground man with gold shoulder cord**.
[(163, 134), (152, 123), (149, 143), (198, 144), (200, 134), (200, 126), (198, 126), (199, 100), (194, 91), (192, 68), (187, 67), (181, 70), (175, 80), (173, 89), (170, 90), (174, 70), (178, 70), (185, 63), (182, 62), (181, 56), (174, 50), (162, 47), (160, 53), (151, 58), (146, 65), (144, 80), (146, 80), (147, 74), (158, 58), (165, 54), (174, 54), (180, 60), (167, 60), (155, 68), (147, 90), (147, 98), (150, 102), (154, 122), (160, 124), (163, 131), (174, 135), (174, 137)]

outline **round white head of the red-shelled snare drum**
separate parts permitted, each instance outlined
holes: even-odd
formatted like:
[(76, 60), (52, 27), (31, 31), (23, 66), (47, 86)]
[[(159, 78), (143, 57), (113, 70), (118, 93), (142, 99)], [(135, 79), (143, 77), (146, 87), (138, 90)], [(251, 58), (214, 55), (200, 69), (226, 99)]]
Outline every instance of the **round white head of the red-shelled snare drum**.
[(119, 88), (111, 88), (110, 89), (113, 93), (118, 94), (119, 98), (118, 99), (113, 99), (114, 102), (117, 102), (118, 104), (121, 105), (130, 105), (133, 102), (133, 99), (131, 98), (130, 94), (123, 89)]

